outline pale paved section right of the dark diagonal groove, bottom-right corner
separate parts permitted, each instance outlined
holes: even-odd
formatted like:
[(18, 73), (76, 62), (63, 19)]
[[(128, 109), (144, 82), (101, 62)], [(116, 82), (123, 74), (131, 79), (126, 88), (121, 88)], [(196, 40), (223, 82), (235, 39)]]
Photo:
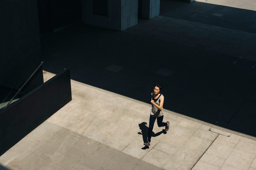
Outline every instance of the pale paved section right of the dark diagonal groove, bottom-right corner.
[[(250, 141), (251, 143), (244, 143), (245, 141), (243, 140)], [(239, 145), (237, 147), (238, 143)], [(200, 162), (220, 167), (220, 169), (253, 168), (256, 156), (256, 152), (254, 151), (256, 147), (253, 143), (254, 140), (238, 135), (232, 134), (228, 137), (219, 134), (192, 169), (199, 168), (202, 164)], [(206, 164), (204, 164), (204, 166), (206, 166)], [(211, 166), (207, 166), (207, 168), (210, 167)]]

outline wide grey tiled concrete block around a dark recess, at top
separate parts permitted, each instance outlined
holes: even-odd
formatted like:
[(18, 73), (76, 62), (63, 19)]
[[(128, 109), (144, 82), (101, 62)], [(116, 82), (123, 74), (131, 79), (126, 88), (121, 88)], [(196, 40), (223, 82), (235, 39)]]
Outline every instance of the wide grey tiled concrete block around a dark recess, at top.
[(85, 24), (122, 31), (138, 24), (138, 0), (108, 0), (107, 16), (94, 15), (93, 0), (82, 0)]

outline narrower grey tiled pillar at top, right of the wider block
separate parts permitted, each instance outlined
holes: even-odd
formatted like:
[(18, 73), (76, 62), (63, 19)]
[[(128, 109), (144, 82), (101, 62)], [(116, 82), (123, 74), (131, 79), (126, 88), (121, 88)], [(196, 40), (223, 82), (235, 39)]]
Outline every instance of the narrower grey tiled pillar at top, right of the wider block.
[(160, 0), (142, 0), (142, 18), (151, 19), (159, 16)]

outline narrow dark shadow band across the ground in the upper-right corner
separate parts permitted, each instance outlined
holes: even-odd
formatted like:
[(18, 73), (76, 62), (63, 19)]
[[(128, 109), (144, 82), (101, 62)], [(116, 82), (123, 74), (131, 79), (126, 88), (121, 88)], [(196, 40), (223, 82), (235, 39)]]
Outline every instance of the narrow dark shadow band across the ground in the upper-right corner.
[[(233, 3), (235, 4), (235, 2)], [(248, 5), (248, 7), (250, 6)], [(256, 12), (254, 10), (217, 5), (214, 4), (214, 1), (211, 3), (197, 1), (186, 3), (176, 0), (161, 0), (160, 15), (256, 33)]]

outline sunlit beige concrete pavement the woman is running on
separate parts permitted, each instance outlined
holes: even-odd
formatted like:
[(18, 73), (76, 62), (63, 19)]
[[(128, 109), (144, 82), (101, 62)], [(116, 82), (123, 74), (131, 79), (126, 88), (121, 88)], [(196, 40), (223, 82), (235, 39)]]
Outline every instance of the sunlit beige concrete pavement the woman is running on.
[[(53, 74), (44, 71), (45, 81)], [(72, 101), (0, 157), (8, 169), (256, 169), (256, 141), (164, 110), (144, 147), (150, 104), (71, 80)], [(141, 124), (141, 126), (139, 126)], [(215, 131), (215, 132), (214, 132)], [(218, 133), (217, 133), (218, 132)]]

